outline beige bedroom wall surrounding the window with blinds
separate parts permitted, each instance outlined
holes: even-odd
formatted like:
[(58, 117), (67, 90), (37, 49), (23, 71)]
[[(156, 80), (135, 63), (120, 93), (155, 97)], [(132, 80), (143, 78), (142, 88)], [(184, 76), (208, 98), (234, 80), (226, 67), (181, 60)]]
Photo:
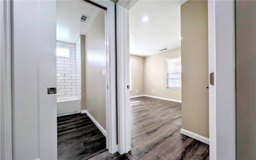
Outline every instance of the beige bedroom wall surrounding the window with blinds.
[(180, 56), (180, 48), (145, 57), (144, 93), (146, 95), (181, 100), (181, 89), (167, 88), (166, 80), (166, 59), (178, 56)]

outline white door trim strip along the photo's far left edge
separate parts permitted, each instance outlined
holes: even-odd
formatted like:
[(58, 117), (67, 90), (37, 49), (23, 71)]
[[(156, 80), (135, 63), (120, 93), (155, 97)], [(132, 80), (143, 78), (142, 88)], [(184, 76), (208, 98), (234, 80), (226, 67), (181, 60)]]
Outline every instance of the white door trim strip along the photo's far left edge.
[(11, 1), (0, 2), (0, 16), (0, 159), (12, 159)]

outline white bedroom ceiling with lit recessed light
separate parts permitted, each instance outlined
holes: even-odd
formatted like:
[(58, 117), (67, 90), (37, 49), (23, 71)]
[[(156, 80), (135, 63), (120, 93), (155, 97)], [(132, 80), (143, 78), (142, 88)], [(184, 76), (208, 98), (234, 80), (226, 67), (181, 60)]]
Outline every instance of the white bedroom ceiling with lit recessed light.
[(130, 54), (146, 57), (179, 48), (180, 5), (186, 1), (138, 1), (130, 9)]

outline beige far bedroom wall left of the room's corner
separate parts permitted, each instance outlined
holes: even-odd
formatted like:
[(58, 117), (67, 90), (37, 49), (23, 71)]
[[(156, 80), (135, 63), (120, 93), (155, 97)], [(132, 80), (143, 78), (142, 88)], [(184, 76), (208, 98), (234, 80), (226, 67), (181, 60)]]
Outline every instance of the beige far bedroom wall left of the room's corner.
[(130, 55), (130, 63), (132, 69), (130, 96), (142, 95), (144, 94), (144, 57)]

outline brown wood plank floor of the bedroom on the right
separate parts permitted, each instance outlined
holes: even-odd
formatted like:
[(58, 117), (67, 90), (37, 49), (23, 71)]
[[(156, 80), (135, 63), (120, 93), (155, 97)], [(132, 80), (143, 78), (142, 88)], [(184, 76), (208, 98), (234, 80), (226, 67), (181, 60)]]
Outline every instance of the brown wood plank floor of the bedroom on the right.
[(131, 99), (129, 159), (209, 159), (209, 145), (180, 133), (181, 103)]

